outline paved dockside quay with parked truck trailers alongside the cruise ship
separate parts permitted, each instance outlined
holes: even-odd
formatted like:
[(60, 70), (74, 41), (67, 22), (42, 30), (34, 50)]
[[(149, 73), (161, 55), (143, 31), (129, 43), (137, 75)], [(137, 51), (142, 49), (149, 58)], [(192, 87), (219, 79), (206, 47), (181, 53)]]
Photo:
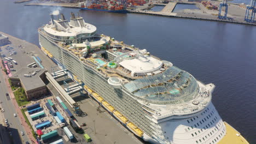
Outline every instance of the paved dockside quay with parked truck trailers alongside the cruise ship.
[[(15, 74), (16, 70), (24, 69), (32, 63), (36, 63), (39, 68), (41, 66), (48, 70), (53, 76), (53, 73), (56, 75), (60, 73), (61, 69), (53, 61), (50, 61), (38, 46), (3, 34), (7, 35), (10, 44), (4, 46), (6, 49), (2, 48), (1, 56), (4, 55), (4, 58), (11, 56), (18, 62), (17, 65), (13, 63), (15, 71), (8, 71), (9, 75)], [(13, 53), (15, 54), (13, 55)], [(50, 56), (49, 53), (46, 54)], [(37, 140), (44, 143), (87, 143), (86, 140), (92, 141), (91, 143), (142, 143), (118, 119), (110, 116), (100, 104), (89, 97), (86, 91), (83, 90), (83, 94), (80, 91), (71, 93), (72, 86), (75, 85), (75, 78), (67, 81), (69, 85), (69, 92), (67, 92), (63, 82), (64, 77), (65, 75), (56, 78), (55, 82), (60, 84), (60, 89), (57, 89), (59, 87), (56, 88), (51, 82), (45, 83), (50, 91), (49, 94), (32, 99), (30, 104), (20, 107), (20, 109), (24, 109), (25, 115), (30, 121), (31, 130), (36, 133), (37, 137), (40, 137)], [(70, 77), (66, 78), (70, 79)], [(82, 115), (75, 115), (73, 107), (63, 98), (62, 91), (70, 94), (75, 103), (79, 104)], [(25, 133), (31, 135), (31, 130), (27, 129)], [(83, 131), (83, 134), (80, 134), (80, 130)], [(85, 134), (87, 135), (85, 136)], [(117, 135), (119, 136), (117, 137)], [(31, 141), (33, 140), (31, 139)]]

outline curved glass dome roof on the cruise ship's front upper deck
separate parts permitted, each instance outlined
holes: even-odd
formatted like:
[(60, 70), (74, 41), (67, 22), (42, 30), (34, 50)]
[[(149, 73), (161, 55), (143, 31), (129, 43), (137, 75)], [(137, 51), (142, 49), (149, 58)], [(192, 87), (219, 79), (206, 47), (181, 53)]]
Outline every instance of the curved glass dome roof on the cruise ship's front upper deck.
[(126, 83), (124, 87), (140, 100), (162, 105), (190, 101), (199, 92), (195, 78), (174, 66), (161, 74)]

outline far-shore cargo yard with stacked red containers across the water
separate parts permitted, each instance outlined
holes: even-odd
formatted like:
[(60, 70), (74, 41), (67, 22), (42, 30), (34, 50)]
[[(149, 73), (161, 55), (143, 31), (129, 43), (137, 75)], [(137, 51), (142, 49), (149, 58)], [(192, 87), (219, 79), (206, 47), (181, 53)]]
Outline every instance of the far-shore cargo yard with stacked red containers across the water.
[[(185, 19), (197, 19), (197, 20), (208, 20), (208, 21), (222, 21), (232, 22), (247, 25), (255, 25), (255, 22), (251, 19), (250, 15), (245, 20), (247, 5), (236, 4), (228, 2), (228, 13), (225, 14), (225, 9), (222, 7), (222, 12), (219, 15), (220, 1), (147, 1), (147, 0), (127, 0), (127, 1), (99, 1), (101, 4), (88, 4), (87, 2), (73, 1), (72, 3), (65, 1), (40, 1), (28, 3), (25, 5), (45, 5), (53, 7), (68, 7), (68, 8), (80, 8), (84, 10), (97, 10), (97, 11), (108, 11), (111, 13), (134, 13), (134, 14), (148, 14), (155, 16), (168, 16), (178, 17)], [(75, 3), (77, 2), (77, 3)], [(126, 4), (124, 4), (126, 3)], [(87, 6), (86, 6), (87, 5)], [(124, 10), (126, 5), (127, 12), (120, 11)], [(189, 8), (190, 5), (196, 7), (196, 9)], [(176, 10), (176, 7), (187, 7), (181, 10)], [(162, 7), (160, 11), (152, 10), (153, 7)], [(253, 8), (253, 6), (252, 6)], [(252, 15), (253, 17), (253, 15)]]

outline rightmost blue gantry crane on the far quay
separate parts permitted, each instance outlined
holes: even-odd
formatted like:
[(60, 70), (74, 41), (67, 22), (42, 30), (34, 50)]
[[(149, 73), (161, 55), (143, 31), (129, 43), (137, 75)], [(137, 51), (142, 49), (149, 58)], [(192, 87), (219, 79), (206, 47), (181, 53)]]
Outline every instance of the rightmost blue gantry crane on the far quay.
[(256, 0), (252, 0), (251, 4), (246, 6), (245, 21), (247, 22), (254, 22), (254, 17), (256, 13), (255, 3)]

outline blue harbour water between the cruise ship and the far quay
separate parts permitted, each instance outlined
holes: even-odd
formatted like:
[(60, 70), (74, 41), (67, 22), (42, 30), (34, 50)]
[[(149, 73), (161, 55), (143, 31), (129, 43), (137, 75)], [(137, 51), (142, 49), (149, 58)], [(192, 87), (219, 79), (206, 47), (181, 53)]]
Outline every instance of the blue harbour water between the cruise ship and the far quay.
[(38, 45), (37, 28), (60, 10), (79, 12), (106, 34), (172, 62), (203, 83), (214, 83), (213, 104), (250, 143), (256, 143), (256, 27), (234, 23), (70, 8), (24, 6), (0, 1), (0, 31)]

